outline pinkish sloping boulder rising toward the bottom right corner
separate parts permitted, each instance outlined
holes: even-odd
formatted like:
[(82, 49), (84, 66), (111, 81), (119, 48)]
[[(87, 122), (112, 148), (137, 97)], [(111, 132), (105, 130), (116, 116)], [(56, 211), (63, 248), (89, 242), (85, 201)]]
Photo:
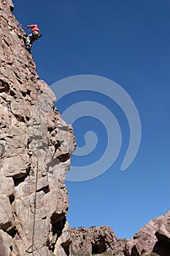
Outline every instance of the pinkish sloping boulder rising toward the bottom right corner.
[(142, 252), (170, 255), (170, 211), (165, 216), (152, 219), (142, 227), (125, 247), (126, 256), (139, 256)]

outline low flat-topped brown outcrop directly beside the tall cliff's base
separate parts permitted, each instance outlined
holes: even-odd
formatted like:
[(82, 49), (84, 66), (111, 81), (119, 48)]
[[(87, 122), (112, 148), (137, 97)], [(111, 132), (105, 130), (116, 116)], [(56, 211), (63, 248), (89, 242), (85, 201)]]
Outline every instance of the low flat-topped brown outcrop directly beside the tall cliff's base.
[(70, 230), (72, 237), (71, 251), (73, 256), (90, 255), (124, 255), (125, 239), (117, 239), (108, 226), (80, 227)]

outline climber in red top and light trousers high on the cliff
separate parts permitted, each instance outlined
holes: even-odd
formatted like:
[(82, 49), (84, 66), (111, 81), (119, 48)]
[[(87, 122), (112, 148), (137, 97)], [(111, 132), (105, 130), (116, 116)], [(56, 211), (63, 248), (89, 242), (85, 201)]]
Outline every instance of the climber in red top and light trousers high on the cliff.
[(31, 28), (31, 34), (29, 34), (28, 37), (26, 38), (26, 48), (28, 50), (31, 49), (34, 41), (42, 37), (42, 34), (39, 31), (38, 25), (28, 25), (26, 29), (29, 29), (29, 28)]

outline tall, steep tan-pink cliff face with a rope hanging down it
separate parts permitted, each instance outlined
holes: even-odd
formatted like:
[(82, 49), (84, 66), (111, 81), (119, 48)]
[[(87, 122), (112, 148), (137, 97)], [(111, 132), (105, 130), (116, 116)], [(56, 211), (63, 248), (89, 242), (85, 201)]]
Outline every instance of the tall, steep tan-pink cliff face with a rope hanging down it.
[(69, 255), (64, 180), (72, 127), (39, 79), (10, 0), (0, 0), (0, 256)]

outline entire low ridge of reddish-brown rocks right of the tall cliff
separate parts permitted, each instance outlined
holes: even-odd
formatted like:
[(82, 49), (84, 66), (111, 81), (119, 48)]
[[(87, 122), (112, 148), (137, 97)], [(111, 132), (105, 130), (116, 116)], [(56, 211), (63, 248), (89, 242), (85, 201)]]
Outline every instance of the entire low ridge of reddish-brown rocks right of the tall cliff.
[(72, 256), (169, 256), (170, 211), (152, 219), (133, 238), (117, 239), (107, 226), (70, 230)]

